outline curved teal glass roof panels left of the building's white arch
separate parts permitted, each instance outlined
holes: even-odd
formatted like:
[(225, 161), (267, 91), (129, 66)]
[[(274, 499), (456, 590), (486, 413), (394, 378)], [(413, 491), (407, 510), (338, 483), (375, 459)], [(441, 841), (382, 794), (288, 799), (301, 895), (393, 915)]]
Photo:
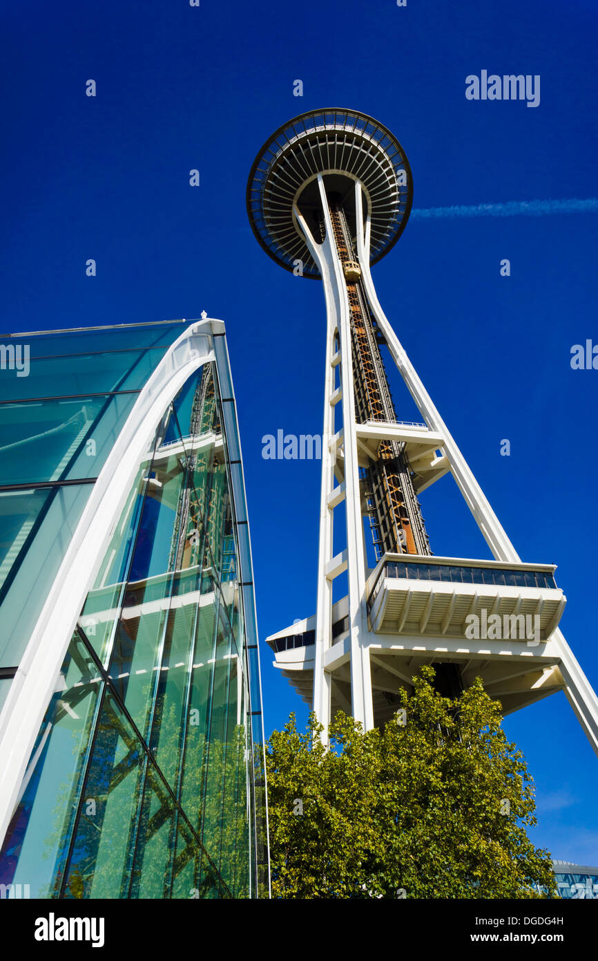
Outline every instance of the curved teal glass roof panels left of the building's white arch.
[(90, 484), (186, 326), (11, 338), (21, 357), (27, 351), (29, 370), (0, 377), (0, 687), (19, 664)]

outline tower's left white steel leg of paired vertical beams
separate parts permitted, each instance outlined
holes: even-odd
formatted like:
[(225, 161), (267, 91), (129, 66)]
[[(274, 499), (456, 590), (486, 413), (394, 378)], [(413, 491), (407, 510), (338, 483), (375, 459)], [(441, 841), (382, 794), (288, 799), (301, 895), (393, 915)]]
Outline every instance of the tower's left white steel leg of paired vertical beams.
[[(327, 312), (326, 346), (326, 389), (324, 396), (324, 443), (328, 447), (326, 425), (333, 424), (333, 409), (330, 406), (330, 372), (332, 355), (330, 351), (334, 333), (338, 330), (341, 353), (341, 386), (343, 405), (343, 450), (345, 463), (345, 501), (347, 518), (347, 581), (348, 581), (348, 620), (351, 678), (351, 712), (365, 730), (373, 727), (373, 705), (371, 700), (370, 651), (366, 610), (366, 558), (364, 554), (363, 519), (359, 492), (359, 463), (355, 435), (355, 401), (353, 394), (353, 363), (351, 354), (350, 311), (347, 298), (347, 285), (343, 267), (339, 259), (332, 222), (328, 210), (323, 177), (318, 175), (318, 185), (323, 207), (325, 237), (317, 244), (302, 218), (297, 206), (295, 216), (305, 235), (310, 252), (320, 267), (323, 279)], [(332, 381), (332, 393), (334, 381)], [(330, 407), (330, 410), (326, 409)], [(331, 452), (332, 456), (336, 453)], [(332, 559), (332, 508), (329, 498), (334, 494), (333, 462), (328, 462), (328, 453), (323, 451), (323, 475), (321, 495), (320, 556), (318, 561), (318, 606), (316, 614), (316, 653), (314, 667), (314, 710), (324, 727), (330, 716), (330, 677), (324, 677), (323, 658), (332, 639), (331, 607), (332, 580), (326, 577), (326, 566)], [(332, 468), (332, 469), (331, 469)], [(327, 583), (324, 583), (327, 581)], [(322, 711), (322, 714), (318, 712)]]

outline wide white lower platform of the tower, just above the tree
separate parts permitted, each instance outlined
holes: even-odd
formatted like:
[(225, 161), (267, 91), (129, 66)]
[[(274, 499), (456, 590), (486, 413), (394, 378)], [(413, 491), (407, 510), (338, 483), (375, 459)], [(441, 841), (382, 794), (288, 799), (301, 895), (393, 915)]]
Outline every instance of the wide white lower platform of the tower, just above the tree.
[[(566, 599), (554, 572), (552, 564), (384, 554), (366, 584), (368, 629), (362, 639), (370, 648), (376, 724), (392, 716), (398, 690), (411, 689), (422, 664), (458, 665), (465, 685), (481, 677), (505, 714), (562, 688), (550, 638)], [(474, 632), (466, 627), (471, 614)], [(314, 615), (266, 639), (276, 668), (307, 703), (313, 697), (315, 628)], [(332, 607), (324, 666), (333, 709), (350, 714), (348, 628), (343, 598)]]

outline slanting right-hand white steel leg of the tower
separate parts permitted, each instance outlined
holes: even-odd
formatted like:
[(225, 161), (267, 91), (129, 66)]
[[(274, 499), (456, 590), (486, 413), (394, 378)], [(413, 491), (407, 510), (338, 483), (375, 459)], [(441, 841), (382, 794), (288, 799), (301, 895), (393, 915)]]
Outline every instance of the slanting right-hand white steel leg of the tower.
[[(492, 510), (489, 501), (484, 496), (482, 488), (477, 480), (475, 480), (466, 463), (466, 458), (447, 430), (443, 418), (434, 406), (423, 383), (419, 380), (415, 367), (409, 357), (407, 357), (395, 331), (380, 307), (371, 280), (370, 271), (370, 211), (368, 211), (367, 214), (365, 231), (362, 232), (359, 230), (359, 225), (364, 223), (363, 194), (359, 181), (355, 183), (355, 210), (356, 223), (358, 226), (357, 255), (361, 267), (362, 280), (366, 288), (372, 314), (380, 331), (384, 334), (395, 365), (416, 402), (419, 412), (429, 430), (440, 433), (443, 436), (442, 448), (448, 460), (450, 471), (463, 494), (466, 505), (469, 507), (479, 529), (482, 531), (492, 555), (496, 560), (506, 561), (507, 563), (517, 563), (520, 561), (520, 557), (515, 551), (511, 540)], [(598, 698), (559, 628), (553, 632), (551, 641), (554, 642), (560, 654), (559, 667), (564, 681), (567, 700), (573, 707), (580, 724), (584, 728), (587, 739), (594, 752), (598, 754)]]

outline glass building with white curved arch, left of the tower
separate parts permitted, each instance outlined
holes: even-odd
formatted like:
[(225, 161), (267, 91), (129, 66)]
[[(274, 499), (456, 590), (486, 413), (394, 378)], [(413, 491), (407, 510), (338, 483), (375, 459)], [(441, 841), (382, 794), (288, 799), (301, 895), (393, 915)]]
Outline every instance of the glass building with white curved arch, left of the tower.
[(3, 351), (2, 894), (268, 897), (224, 324), (22, 334)]

